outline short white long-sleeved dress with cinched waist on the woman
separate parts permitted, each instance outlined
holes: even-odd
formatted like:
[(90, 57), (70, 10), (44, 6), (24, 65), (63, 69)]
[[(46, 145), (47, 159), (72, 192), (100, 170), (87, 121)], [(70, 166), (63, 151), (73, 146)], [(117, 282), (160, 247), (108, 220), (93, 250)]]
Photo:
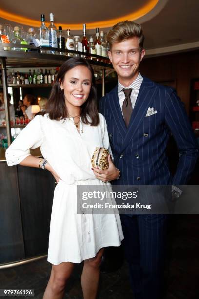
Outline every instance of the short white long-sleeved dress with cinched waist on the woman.
[[(73, 118), (51, 120), (36, 116), (6, 150), (8, 166), (19, 164), (40, 147), (43, 157), (60, 177), (55, 187), (50, 223), (48, 261), (80, 263), (95, 257), (107, 246), (119, 246), (123, 239), (119, 214), (77, 214), (77, 185), (104, 185), (91, 170), (96, 147), (110, 149), (106, 121), (99, 113), (98, 126), (80, 120), (80, 134)], [(43, 170), (41, 170), (43, 171)]]

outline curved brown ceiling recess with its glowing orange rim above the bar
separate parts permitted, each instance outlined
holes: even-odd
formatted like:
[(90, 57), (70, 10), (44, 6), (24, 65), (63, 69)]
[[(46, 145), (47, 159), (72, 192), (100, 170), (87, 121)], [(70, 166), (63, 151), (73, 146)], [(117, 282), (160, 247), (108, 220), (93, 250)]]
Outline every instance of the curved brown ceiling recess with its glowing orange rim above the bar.
[(35, 0), (34, 7), (38, 9), (33, 10), (32, 3), (27, 0), (20, 0), (18, 6), (13, 5), (13, 0), (1, 0), (3, 9), (0, 9), (0, 17), (23, 25), (40, 27), (40, 14), (45, 14), (48, 21), (49, 13), (53, 12), (56, 25), (62, 25), (63, 29), (81, 30), (82, 23), (86, 23), (88, 29), (108, 28), (119, 21), (136, 20), (146, 15), (158, 2), (159, 0), (59, 0), (59, 5), (55, 6), (53, 0), (48, 0), (48, 5), (45, 1)]

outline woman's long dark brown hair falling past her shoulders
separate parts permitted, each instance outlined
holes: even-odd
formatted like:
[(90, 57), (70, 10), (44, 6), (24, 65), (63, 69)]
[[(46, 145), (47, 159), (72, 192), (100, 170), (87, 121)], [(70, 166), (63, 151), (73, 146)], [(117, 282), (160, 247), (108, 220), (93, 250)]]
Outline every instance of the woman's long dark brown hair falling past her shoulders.
[(79, 65), (87, 67), (92, 75), (91, 90), (88, 99), (81, 106), (80, 116), (84, 124), (97, 126), (100, 122), (100, 118), (97, 110), (97, 92), (95, 87), (94, 71), (88, 61), (83, 58), (69, 58), (61, 65), (46, 105), (46, 113), (49, 113), (49, 118), (54, 120), (69, 117), (65, 105), (64, 92), (61, 90), (60, 84), (63, 82), (65, 74), (72, 68)]

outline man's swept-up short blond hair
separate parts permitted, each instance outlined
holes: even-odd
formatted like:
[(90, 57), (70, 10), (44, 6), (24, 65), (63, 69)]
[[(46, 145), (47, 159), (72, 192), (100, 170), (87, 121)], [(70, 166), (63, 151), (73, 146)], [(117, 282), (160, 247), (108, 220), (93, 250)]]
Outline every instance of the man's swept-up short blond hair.
[(123, 40), (133, 37), (138, 37), (139, 46), (142, 49), (144, 44), (144, 35), (141, 25), (134, 23), (133, 21), (123, 21), (114, 25), (113, 28), (108, 32), (107, 41), (111, 49), (113, 43), (120, 43)]

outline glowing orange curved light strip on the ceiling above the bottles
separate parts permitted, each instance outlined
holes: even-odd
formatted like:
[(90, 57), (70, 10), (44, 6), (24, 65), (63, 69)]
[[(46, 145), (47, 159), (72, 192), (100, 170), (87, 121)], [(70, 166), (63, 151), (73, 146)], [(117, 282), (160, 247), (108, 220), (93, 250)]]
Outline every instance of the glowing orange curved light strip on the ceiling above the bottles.
[[(143, 17), (147, 13), (149, 13), (159, 2), (159, 0), (149, 0), (143, 7), (139, 8), (138, 10), (111, 20), (105, 20), (105, 21), (97, 21), (97, 22), (91, 22), (86, 23), (87, 29), (95, 29), (96, 27), (100, 28), (107, 28), (112, 27), (114, 24), (120, 22), (120, 21), (133, 21), (136, 19), (139, 19), (140, 17)], [(13, 13), (9, 13), (7, 11), (4, 11), (0, 9), (0, 17), (9, 21), (13, 21), (16, 23), (20, 23), (23, 25), (31, 26), (31, 27), (40, 27), (40, 21), (28, 19), (23, 16), (15, 15)], [(49, 25), (49, 22), (46, 22), (46, 25)], [(63, 30), (66, 30), (67, 28), (70, 28), (71, 30), (82, 30), (82, 24), (60, 24), (55, 23), (55, 25), (62, 26)]]

